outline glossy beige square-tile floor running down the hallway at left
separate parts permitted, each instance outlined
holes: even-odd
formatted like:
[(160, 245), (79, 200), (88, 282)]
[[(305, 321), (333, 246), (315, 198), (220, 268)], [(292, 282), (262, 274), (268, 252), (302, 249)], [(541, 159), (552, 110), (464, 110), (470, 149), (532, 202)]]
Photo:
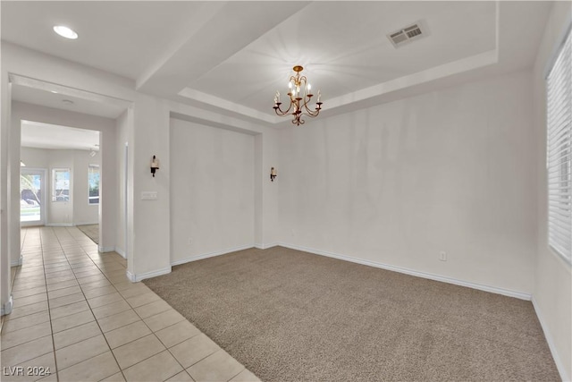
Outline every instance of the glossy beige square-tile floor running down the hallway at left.
[(258, 380), (79, 229), (23, 229), (22, 255), (3, 381)]

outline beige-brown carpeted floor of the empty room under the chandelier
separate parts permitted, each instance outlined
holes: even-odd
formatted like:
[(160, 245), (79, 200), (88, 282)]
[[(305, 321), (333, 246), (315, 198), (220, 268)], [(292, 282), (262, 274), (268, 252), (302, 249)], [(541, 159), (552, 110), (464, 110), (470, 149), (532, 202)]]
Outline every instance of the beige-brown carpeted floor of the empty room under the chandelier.
[(265, 381), (559, 380), (530, 301), (282, 247), (144, 283)]

